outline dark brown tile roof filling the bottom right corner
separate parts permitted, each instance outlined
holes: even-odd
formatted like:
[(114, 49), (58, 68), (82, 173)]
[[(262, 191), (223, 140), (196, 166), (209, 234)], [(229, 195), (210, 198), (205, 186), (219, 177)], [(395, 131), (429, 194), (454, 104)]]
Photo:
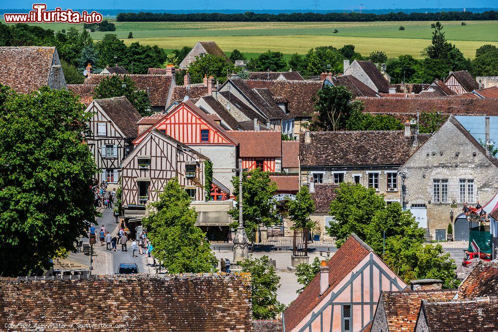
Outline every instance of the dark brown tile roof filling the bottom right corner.
[(444, 302), (422, 300), (421, 311), (429, 332), (498, 331), (497, 297)]

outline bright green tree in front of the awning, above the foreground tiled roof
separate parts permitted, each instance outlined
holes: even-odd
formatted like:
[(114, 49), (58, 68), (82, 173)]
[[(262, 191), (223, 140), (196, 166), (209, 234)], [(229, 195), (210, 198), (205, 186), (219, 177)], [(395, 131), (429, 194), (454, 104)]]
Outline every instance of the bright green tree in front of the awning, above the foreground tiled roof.
[(195, 225), (197, 213), (177, 178), (168, 181), (153, 212), (142, 223), (153, 246), (153, 254), (169, 273), (211, 272), (217, 263), (206, 234)]

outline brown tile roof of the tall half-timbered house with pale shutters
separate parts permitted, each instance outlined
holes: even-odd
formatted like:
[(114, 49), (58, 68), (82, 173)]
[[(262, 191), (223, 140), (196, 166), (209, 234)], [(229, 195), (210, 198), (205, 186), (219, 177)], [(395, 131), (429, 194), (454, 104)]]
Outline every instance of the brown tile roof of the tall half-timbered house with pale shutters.
[(126, 137), (136, 137), (137, 122), (141, 115), (126, 97), (96, 99), (95, 103), (99, 104)]

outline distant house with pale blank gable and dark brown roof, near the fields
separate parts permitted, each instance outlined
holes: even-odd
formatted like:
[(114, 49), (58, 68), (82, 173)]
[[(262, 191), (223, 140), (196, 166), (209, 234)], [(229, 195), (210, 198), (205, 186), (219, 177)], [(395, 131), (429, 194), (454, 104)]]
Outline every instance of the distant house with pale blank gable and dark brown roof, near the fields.
[(377, 93), (389, 93), (389, 81), (370, 60), (353, 61), (353, 63), (344, 70), (344, 75), (356, 77)]

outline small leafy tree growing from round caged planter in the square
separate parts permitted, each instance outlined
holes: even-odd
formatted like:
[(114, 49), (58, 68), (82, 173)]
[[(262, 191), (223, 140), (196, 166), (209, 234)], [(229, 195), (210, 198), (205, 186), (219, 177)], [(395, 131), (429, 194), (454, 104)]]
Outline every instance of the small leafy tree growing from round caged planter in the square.
[(315, 202), (311, 199), (308, 187), (301, 187), (296, 194), (296, 199), (288, 201), (286, 208), (290, 220), (294, 223), (293, 229), (311, 230), (315, 226), (316, 222), (310, 218), (310, 215), (315, 212)]

